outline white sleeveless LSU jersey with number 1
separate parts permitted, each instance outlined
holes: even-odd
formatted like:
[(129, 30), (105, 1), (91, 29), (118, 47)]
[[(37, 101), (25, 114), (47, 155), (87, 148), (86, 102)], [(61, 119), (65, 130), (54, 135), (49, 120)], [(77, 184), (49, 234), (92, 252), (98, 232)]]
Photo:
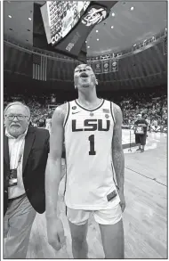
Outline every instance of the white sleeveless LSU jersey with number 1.
[(67, 102), (64, 121), (66, 148), (65, 203), (68, 208), (99, 210), (112, 208), (119, 196), (108, 201), (117, 191), (112, 162), (112, 138), (115, 124), (113, 102), (89, 110), (76, 100)]

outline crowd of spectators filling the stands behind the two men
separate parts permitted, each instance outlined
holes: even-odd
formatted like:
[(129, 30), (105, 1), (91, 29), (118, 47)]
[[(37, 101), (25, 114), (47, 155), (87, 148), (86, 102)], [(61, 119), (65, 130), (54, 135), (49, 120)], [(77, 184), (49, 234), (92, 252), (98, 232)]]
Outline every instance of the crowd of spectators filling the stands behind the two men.
[[(108, 99), (108, 100), (111, 100)], [(4, 105), (8, 102), (25, 102), (31, 110), (31, 124), (45, 126), (46, 118), (52, 118), (53, 110), (59, 105), (55, 94), (12, 94), (4, 96)], [(133, 126), (137, 114), (141, 113), (148, 120), (149, 126), (167, 126), (166, 91), (151, 93), (137, 92), (123, 94), (113, 99), (123, 112), (123, 125)]]

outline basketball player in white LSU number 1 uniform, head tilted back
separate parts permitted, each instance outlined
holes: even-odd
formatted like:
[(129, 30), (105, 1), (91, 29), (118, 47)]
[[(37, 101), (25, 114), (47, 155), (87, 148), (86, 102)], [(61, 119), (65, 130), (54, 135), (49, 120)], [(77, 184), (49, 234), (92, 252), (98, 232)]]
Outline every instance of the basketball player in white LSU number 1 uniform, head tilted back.
[(113, 102), (97, 97), (98, 81), (90, 66), (78, 65), (74, 82), (78, 99), (59, 106), (52, 116), (45, 178), (48, 241), (57, 250), (65, 241), (63, 225), (57, 216), (64, 136), (65, 203), (73, 256), (87, 258), (87, 222), (93, 214), (100, 225), (105, 257), (124, 258), (122, 112)]

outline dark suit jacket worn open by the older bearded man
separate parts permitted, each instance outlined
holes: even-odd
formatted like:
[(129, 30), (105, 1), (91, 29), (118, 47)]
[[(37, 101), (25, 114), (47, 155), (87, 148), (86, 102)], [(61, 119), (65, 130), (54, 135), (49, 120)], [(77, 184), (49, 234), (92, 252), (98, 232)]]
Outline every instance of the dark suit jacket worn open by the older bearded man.
[[(38, 213), (45, 211), (44, 173), (48, 153), (48, 130), (29, 126), (25, 136), (22, 177), (28, 200)], [(4, 134), (4, 215), (8, 207), (9, 173), (8, 137)]]

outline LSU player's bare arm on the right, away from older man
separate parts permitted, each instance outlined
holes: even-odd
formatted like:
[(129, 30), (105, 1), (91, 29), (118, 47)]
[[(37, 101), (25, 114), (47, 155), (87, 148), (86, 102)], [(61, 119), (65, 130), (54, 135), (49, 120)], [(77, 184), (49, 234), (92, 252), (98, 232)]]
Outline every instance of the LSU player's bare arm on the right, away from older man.
[(122, 211), (125, 210), (125, 196), (124, 196), (124, 175), (125, 175), (125, 157), (122, 147), (122, 111), (117, 104), (114, 104), (114, 114), (116, 123), (114, 126), (113, 140), (112, 140), (112, 159), (117, 176), (118, 193), (121, 200)]

